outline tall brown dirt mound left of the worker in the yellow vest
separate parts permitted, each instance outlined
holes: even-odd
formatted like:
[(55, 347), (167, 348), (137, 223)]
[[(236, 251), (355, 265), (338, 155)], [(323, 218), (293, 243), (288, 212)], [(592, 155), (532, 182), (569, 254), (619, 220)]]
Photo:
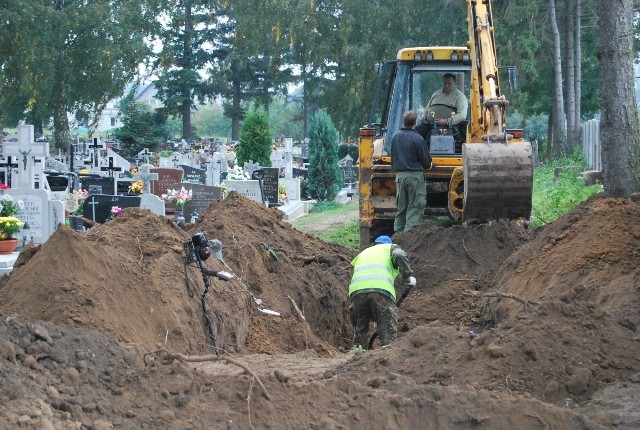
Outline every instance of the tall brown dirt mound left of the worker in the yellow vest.
[[(189, 232), (139, 209), (127, 209), (86, 234), (60, 228), (41, 247), (25, 250), (30, 258), (22, 256), (5, 280), (0, 309), (24, 320), (95, 328), (147, 351), (162, 344), (190, 354), (211, 352), (202, 274), (189, 267), (187, 286), (182, 260), (183, 242), (204, 231), (223, 243), (225, 257), (205, 266), (239, 278), (210, 278), (205, 295), (220, 348), (268, 353), (315, 348), (333, 354), (349, 347), (344, 294), (349, 251), (293, 230), (279, 213), (232, 193), (211, 205)], [(281, 316), (258, 312), (249, 292)]]

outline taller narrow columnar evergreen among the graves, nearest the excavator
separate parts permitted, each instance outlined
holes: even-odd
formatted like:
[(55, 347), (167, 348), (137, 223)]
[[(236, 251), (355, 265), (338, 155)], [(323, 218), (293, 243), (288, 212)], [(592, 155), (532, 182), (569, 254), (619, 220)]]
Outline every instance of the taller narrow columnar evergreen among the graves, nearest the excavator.
[(338, 132), (326, 111), (320, 109), (309, 121), (309, 192), (311, 197), (332, 201), (340, 189)]

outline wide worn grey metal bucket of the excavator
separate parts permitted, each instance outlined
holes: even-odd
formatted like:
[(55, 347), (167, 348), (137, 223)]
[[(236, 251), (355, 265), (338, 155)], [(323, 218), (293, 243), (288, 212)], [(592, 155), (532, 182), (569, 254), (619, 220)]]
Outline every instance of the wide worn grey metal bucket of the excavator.
[(462, 221), (529, 218), (533, 192), (529, 142), (467, 143), (462, 157)]

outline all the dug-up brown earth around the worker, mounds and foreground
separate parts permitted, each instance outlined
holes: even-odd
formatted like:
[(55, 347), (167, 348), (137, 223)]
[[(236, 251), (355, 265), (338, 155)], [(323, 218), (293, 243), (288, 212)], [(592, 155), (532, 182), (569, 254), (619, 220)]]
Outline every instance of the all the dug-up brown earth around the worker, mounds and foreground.
[[(182, 260), (198, 231), (224, 245), (205, 266), (238, 277), (204, 295)], [(358, 353), (355, 252), (277, 209), (232, 193), (187, 232), (136, 209), (60, 228), (0, 279), (0, 428), (640, 427), (637, 202), (593, 198), (536, 231), (425, 220), (394, 240), (418, 286), (398, 340)], [(252, 373), (166, 360), (213, 354), (203, 298), (221, 357)]]

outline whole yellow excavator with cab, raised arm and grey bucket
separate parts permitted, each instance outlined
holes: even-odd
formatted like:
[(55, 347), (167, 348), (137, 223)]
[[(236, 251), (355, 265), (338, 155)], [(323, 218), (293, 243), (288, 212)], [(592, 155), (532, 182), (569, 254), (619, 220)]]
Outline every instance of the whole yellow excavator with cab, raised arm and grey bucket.
[[(490, 0), (466, 0), (466, 47), (415, 47), (398, 51), (381, 64), (369, 124), (360, 129), (360, 247), (393, 233), (396, 214), (391, 136), (402, 114), (422, 116), (445, 74), (468, 96), (467, 118), (456, 126), (430, 131), (432, 168), (427, 183), (426, 216), (456, 221), (528, 219), (531, 214), (533, 162), (523, 131), (506, 128)], [(515, 75), (508, 68), (510, 78)], [(419, 120), (420, 121), (420, 120)]]

